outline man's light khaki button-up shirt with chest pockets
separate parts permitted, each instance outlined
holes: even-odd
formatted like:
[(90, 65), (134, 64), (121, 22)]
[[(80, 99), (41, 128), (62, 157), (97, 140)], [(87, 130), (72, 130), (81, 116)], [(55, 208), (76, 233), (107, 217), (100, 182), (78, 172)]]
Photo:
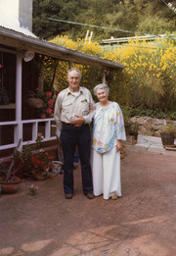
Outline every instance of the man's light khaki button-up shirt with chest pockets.
[[(90, 112), (90, 109), (93, 110)], [(55, 104), (55, 120), (57, 128), (61, 131), (62, 123), (71, 123), (75, 115), (83, 116), (85, 124), (90, 124), (94, 116), (95, 103), (87, 88), (79, 87), (77, 93), (70, 91), (69, 87), (62, 90)]]

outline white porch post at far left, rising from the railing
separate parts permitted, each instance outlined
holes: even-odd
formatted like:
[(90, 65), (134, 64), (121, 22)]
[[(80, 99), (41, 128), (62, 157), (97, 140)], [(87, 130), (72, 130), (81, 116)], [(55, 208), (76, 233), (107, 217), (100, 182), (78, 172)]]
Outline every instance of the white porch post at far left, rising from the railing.
[(15, 127), (14, 142), (18, 144), (19, 139), (22, 138), (22, 54), (20, 52), (16, 55), (16, 121), (18, 126)]

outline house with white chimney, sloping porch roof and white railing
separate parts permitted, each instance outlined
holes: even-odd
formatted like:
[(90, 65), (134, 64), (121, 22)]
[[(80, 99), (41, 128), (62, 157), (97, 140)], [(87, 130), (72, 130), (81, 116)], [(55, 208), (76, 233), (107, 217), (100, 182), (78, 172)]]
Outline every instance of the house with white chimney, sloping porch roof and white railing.
[[(9, 13), (12, 6), (13, 12)], [(56, 141), (53, 118), (34, 119), (25, 103), (26, 92), (39, 77), (35, 55), (41, 54), (69, 63), (100, 67), (125, 68), (122, 64), (77, 52), (37, 38), (31, 32), (32, 0), (0, 1), (0, 67), (1, 83), (8, 90), (7, 102), (0, 105), (0, 154), (11, 152), (22, 138), (22, 145), (35, 143), (38, 132), (44, 140)], [(106, 74), (103, 75), (105, 80)], [(1, 95), (1, 94), (0, 94)]]

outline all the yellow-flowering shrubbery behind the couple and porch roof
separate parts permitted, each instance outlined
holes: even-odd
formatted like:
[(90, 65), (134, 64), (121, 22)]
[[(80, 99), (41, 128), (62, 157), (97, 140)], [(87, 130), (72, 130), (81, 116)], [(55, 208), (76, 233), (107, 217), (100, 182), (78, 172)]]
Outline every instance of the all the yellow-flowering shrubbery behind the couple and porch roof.
[[(176, 105), (176, 46), (171, 39), (157, 39), (153, 42), (128, 41), (116, 48), (105, 50), (96, 42), (73, 41), (67, 36), (57, 36), (52, 40), (73, 50), (99, 56), (126, 66), (122, 72), (107, 71), (110, 98), (122, 105), (174, 110)], [(102, 71), (85, 65), (73, 64), (82, 73), (81, 85), (93, 87), (102, 81)], [(44, 78), (55, 90), (67, 87), (66, 62), (45, 57)]]

